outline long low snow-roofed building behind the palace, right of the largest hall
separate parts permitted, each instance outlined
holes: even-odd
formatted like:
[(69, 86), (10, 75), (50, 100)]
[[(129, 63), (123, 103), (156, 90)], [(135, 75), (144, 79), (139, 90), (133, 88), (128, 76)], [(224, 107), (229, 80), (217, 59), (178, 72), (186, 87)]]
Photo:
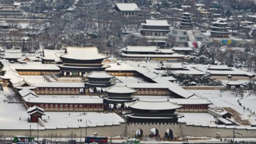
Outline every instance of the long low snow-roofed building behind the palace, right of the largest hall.
[(127, 60), (183, 60), (183, 54), (172, 49), (159, 49), (157, 46), (127, 46), (122, 49), (122, 58)]

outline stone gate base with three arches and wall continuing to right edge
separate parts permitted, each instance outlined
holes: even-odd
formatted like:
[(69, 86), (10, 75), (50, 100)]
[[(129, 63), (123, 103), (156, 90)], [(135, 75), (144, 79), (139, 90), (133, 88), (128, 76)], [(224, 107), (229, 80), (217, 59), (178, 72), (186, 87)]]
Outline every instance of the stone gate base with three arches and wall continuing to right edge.
[[(216, 133), (220, 133), (221, 137), (232, 138), (234, 126), (219, 126), (216, 125), (186, 125), (184, 123), (179, 124), (129, 124), (127, 125), (127, 136), (134, 136), (134, 133), (137, 129), (143, 131), (144, 136), (150, 134), (150, 129), (156, 128), (159, 131), (161, 138), (164, 136), (166, 129), (172, 129), (174, 138), (180, 138), (182, 136), (207, 136), (211, 138), (216, 137)], [(132, 132), (133, 131), (133, 132)], [(254, 138), (256, 127), (237, 127), (235, 132), (239, 132), (236, 137), (238, 138)], [(133, 133), (133, 134), (132, 134)]]

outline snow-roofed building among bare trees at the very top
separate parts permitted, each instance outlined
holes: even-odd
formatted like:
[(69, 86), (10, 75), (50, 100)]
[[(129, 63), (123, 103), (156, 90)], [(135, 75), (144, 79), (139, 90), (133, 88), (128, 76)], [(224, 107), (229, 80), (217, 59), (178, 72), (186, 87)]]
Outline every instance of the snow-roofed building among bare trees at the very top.
[(140, 12), (136, 3), (116, 3), (115, 10), (121, 12), (125, 17), (136, 16)]

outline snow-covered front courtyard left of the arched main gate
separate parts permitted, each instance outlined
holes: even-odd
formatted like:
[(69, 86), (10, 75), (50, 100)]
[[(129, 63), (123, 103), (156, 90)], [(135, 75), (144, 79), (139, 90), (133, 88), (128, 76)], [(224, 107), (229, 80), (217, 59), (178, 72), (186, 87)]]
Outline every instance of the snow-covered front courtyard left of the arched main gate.
[[(10, 88), (4, 87), (4, 93), (0, 95), (0, 129), (37, 129), (37, 123), (29, 123), (29, 115), (23, 104), (10, 104), (4, 102), (6, 96), (14, 95)], [(89, 113), (83, 112), (45, 112), (42, 120), (46, 120), (45, 127), (79, 127), (85, 125), (112, 125), (124, 122), (116, 113)], [(48, 119), (49, 116), (49, 119)], [(99, 118), (100, 117), (100, 118)], [(79, 120), (79, 122), (78, 122)], [(81, 122), (80, 122), (81, 120)], [(41, 129), (43, 127), (40, 127)], [(39, 129), (40, 129), (39, 128)]]

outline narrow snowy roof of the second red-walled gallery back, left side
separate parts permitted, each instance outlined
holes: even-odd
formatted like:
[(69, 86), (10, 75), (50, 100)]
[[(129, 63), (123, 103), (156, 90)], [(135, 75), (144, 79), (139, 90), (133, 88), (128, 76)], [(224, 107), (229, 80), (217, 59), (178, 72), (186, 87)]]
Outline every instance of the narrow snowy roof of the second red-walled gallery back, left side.
[(34, 84), (40, 88), (84, 88), (84, 83), (40, 82)]

